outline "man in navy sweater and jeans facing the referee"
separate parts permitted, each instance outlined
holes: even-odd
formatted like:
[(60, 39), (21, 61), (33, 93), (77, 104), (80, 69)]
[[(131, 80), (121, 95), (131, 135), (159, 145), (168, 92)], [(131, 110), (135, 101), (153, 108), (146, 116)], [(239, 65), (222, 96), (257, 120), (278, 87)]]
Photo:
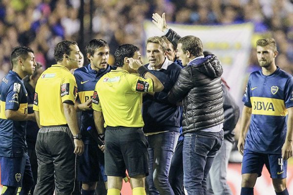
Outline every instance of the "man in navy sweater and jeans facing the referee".
[(143, 99), (143, 131), (148, 141), (149, 176), (146, 191), (149, 195), (174, 195), (168, 173), (171, 158), (179, 137), (179, 106), (167, 101), (167, 94), (176, 83), (181, 67), (167, 59), (167, 45), (161, 37), (146, 41), (145, 65), (164, 85), (164, 90), (147, 94)]

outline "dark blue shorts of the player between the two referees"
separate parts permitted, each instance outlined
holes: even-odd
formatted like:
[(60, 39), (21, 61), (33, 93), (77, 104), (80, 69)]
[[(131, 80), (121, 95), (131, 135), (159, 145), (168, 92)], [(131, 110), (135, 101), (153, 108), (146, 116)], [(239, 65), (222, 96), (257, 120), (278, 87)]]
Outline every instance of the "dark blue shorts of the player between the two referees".
[(105, 176), (104, 153), (96, 144), (84, 144), (84, 153), (79, 156), (78, 180), (83, 182), (98, 181), (100, 176), (107, 181)]

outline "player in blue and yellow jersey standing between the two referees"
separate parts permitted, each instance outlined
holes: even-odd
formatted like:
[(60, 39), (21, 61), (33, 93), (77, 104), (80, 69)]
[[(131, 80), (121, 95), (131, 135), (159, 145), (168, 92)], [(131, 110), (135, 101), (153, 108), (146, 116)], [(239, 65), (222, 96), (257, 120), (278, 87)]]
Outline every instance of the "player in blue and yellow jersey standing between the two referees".
[(80, 156), (78, 180), (83, 183), (82, 195), (94, 195), (99, 173), (104, 181), (107, 180), (107, 177), (104, 174), (103, 148), (99, 149), (98, 144), (87, 132), (88, 130), (96, 131), (91, 99), (98, 80), (116, 67), (108, 65), (109, 46), (105, 40), (92, 39), (86, 45), (85, 50), (90, 63), (76, 69), (73, 74), (78, 87), (79, 103), (76, 104), (76, 107), (82, 110), (81, 134), (84, 141), (84, 154)]

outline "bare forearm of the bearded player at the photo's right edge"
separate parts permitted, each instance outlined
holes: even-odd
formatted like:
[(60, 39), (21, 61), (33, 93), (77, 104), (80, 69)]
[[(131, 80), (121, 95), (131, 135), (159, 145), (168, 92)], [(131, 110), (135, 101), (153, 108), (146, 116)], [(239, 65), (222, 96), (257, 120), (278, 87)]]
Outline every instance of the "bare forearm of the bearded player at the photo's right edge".
[(293, 107), (287, 108), (287, 134), (284, 145), (282, 147), (282, 157), (287, 160), (293, 156)]

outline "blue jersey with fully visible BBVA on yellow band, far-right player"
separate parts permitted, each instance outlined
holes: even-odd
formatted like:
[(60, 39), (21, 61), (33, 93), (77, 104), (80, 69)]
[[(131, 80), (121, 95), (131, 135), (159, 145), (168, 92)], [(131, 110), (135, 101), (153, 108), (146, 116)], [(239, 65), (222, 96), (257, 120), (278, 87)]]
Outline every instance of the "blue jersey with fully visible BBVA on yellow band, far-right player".
[(269, 76), (251, 73), (242, 99), (252, 109), (244, 149), (279, 154), (285, 142), (287, 109), (293, 106), (293, 77), (277, 70)]

